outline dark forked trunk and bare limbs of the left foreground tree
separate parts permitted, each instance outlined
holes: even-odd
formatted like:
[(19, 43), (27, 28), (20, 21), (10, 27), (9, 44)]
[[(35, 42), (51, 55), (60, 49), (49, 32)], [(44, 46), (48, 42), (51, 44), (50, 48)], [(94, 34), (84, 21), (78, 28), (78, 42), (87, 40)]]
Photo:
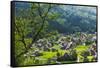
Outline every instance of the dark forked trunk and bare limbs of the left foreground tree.
[[(23, 31), (19, 32), (19, 29), (17, 28), (19, 34), (22, 33), (22, 37), (21, 37), (22, 40), (20, 40), (20, 41), (23, 42), (23, 44), (24, 44), (24, 46), (25, 46), (25, 50), (24, 50), (22, 53), (20, 53), (19, 55), (17, 55), (16, 58), (18, 58), (18, 57), (20, 57), (21, 55), (27, 53), (27, 52), (31, 49), (32, 44), (37, 40), (37, 37), (39, 36), (39, 34), (41, 33), (41, 31), (43, 30), (43, 28), (44, 28), (44, 26), (45, 26), (46, 17), (47, 17), (47, 15), (48, 15), (50, 9), (51, 9), (51, 5), (48, 6), (47, 11), (43, 14), (43, 13), (41, 12), (41, 6), (40, 6), (40, 4), (38, 4), (37, 11), (38, 11), (38, 14), (39, 14), (39, 16), (40, 16), (40, 18), (41, 18), (41, 26), (40, 26), (40, 28), (38, 28), (37, 32), (35, 32), (35, 35), (32, 36), (32, 42), (31, 42), (30, 44), (28, 44), (27, 46), (26, 46), (26, 43), (25, 43), (25, 40), (24, 40), (25, 37), (24, 37), (24, 35), (23, 35)], [(32, 11), (32, 12), (34, 12), (34, 11)], [(34, 19), (33, 19), (33, 20), (34, 20)], [(33, 20), (32, 20), (32, 21), (33, 21)], [(34, 23), (34, 21), (33, 21), (33, 23)], [(34, 34), (34, 33), (32, 33), (32, 35), (33, 35), (33, 34)]]

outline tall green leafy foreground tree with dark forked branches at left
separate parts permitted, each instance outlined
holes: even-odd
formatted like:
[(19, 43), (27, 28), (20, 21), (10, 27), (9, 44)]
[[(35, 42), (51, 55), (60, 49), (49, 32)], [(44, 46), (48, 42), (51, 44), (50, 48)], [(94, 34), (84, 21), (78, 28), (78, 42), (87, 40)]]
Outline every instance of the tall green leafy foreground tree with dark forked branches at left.
[(31, 50), (33, 43), (47, 36), (48, 20), (59, 17), (57, 13), (50, 12), (53, 7), (54, 5), (51, 4), (32, 3), (29, 9), (19, 10), (18, 15), (16, 12), (15, 58), (18, 62), (23, 59), (24, 54)]

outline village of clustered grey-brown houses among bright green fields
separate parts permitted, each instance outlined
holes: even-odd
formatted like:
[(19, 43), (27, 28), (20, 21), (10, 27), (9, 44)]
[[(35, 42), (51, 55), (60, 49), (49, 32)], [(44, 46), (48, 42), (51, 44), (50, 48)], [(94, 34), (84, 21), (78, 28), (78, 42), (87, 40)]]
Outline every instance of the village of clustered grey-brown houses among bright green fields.
[(97, 60), (97, 34), (59, 34), (37, 40), (24, 57), (34, 65), (93, 62)]

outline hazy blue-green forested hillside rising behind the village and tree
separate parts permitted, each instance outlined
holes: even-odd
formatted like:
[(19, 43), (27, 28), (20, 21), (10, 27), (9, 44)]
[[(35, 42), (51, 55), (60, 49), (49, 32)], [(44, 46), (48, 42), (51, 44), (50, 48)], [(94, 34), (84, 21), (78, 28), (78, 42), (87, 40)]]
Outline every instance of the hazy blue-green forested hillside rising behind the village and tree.
[[(29, 7), (31, 7), (29, 3), (16, 4), (16, 8), (18, 8), (16, 11), (20, 9), (28, 10), (30, 9)], [(60, 33), (67, 34), (74, 32), (96, 32), (96, 7), (56, 5), (49, 12), (59, 15), (59, 18), (56, 20), (48, 20), (49, 30), (55, 29)], [(27, 15), (29, 14), (27, 13)]]

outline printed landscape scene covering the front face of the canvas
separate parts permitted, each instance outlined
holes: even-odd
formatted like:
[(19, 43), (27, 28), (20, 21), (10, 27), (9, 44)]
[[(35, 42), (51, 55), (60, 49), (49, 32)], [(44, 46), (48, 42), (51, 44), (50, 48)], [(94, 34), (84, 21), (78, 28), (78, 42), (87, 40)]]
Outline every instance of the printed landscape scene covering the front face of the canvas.
[(15, 2), (17, 66), (97, 61), (96, 7)]

